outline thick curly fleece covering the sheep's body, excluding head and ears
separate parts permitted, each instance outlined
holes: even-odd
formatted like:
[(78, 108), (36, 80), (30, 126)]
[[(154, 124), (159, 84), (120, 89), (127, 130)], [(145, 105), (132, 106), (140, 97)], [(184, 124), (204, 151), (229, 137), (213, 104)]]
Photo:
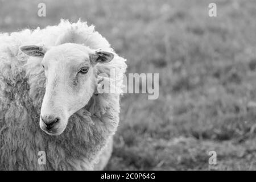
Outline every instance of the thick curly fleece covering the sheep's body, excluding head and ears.
[[(66, 20), (42, 30), (1, 34), (0, 41), (0, 170), (102, 169), (119, 122), (119, 93), (93, 96), (88, 105), (69, 118), (63, 134), (49, 136), (39, 127), (46, 82), (42, 58), (24, 55), (19, 46), (71, 42), (112, 50), (108, 41), (93, 26)], [(110, 69), (115, 68), (117, 89), (121, 89), (125, 61), (115, 55), (109, 64), (97, 64), (96, 76), (109, 76)], [(38, 163), (39, 151), (46, 152), (45, 165)]]

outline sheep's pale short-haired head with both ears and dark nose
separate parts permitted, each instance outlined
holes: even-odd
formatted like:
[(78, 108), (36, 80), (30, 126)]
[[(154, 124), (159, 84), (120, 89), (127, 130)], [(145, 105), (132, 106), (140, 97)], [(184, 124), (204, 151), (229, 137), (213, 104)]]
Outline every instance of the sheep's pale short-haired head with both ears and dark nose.
[(22, 46), (30, 56), (43, 57), (46, 92), (40, 113), (40, 128), (49, 135), (60, 135), (72, 114), (88, 104), (96, 90), (94, 65), (109, 63), (114, 54), (66, 43), (47, 48)]

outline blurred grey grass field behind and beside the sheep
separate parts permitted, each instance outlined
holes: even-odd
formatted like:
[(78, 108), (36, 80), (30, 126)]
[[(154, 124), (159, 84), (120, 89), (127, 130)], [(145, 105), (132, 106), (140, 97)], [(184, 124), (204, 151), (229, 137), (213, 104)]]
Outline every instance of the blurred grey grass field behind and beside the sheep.
[(123, 96), (106, 169), (255, 170), (256, 1), (216, 0), (214, 18), (210, 2), (0, 0), (0, 31), (81, 18), (127, 59), (128, 73), (159, 73), (158, 100)]

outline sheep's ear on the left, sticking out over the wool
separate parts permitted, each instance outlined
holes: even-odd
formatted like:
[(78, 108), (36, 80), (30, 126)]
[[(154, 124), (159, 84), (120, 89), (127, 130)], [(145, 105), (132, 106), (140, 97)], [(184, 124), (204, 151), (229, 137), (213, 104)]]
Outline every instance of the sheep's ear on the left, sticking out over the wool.
[(32, 57), (44, 57), (44, 54), (47, 51), (47, 48), (45, 46), (36, 45), (20, 46), (19, 49), (20, 51), (26, 53), (26, 55)]

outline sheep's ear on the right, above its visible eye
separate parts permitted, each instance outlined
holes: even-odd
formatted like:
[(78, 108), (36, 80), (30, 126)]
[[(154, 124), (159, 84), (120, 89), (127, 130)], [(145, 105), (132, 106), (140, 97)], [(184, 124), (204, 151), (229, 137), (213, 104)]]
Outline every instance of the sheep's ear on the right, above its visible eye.
[(114, 54), (112, 52), (102, 51), (101, 49), (96, 50), (94, 53), (91, 53), (89, 56), (90, 56), (91, 63), (94, 65), (97, 63), (102, 63), (102, 64), (109, 63), (114, 58)]

